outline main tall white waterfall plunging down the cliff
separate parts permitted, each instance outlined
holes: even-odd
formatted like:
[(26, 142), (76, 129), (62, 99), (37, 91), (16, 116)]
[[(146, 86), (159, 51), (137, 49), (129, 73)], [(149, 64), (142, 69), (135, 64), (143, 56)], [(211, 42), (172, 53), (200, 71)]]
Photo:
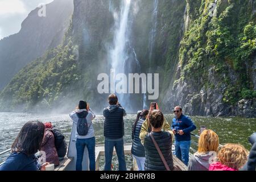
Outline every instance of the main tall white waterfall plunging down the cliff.
[[(115, 21), (115, 31), (114, 31), (114, 47), (109, 50), (110, 53), (110, 63), (112, 72), (112, 80), (114, 80), (110, 86), (110, 92), (116, 93), (115, 86), (121, 85), (121, 93), (116, 93), (119, 102), (122, 106), (126, 107), (129, 111), (134, 111), (133, 96), (131, 93), (127, 93), (127, 88), (123, 85), (127, 84), (127, 80), (123, 78), (115, 78), (118, 73), (125, 73), (128, 76), (129, 73), (141, 73), (141, 65), (137, 59), (136, 52), (131, 46), (131, 24), (132, 18), (129, 16), (131, 9), (131, 0), (123, 0), (121, 2), (121, 11), (119, 14), (111, 8), (110, 1), (110, 11), (112, 11)], [(144, 85), (144, 84), (142, 84)], [(114, 88), (114, 89), (113, 89)], [(142, 105), (146, 109), (146, 93), (142, 94)]]

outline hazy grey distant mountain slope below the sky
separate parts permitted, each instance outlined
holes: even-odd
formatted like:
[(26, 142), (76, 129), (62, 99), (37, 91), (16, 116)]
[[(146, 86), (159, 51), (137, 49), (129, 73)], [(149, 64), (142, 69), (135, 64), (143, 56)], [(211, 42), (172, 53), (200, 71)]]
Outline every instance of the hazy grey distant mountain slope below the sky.
[(73, 13), (73, 1), (49, 3), (46, 17), (39, 17), (38, 11), (36, 8), (28, 14), (17, 34), (0, 40), (0, 90), (26, 64), (62, 42)]

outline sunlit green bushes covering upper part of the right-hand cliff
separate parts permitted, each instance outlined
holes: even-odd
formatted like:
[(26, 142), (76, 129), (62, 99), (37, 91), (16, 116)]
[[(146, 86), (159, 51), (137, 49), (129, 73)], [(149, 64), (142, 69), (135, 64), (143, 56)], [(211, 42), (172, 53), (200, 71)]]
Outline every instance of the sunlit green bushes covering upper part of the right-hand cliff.
[[(179, 51), (181, 78), (198, 90), (211, 85), (209, 69), (226, 86), (223, 101), (236, 104), (256, 97), (250, 77), (256, 50), (256, 26), (252, 1), (218, 1), (217, 16), (209, 15), (212, 1), (187, 1), (191, 24)], [(199, 8), (200, 7), (200, 8)]]

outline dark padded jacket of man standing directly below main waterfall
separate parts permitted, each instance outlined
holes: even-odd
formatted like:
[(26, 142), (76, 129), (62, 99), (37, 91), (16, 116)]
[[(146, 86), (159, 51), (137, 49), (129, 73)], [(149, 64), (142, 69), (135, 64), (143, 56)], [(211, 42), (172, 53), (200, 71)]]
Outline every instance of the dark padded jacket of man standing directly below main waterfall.
[(105, 117), (104, 137), (109, 139), (119, 139), (125, 135), (123, 117), (126, 115), (125, 109), (120, 105), (110, 105), (103, 111)]

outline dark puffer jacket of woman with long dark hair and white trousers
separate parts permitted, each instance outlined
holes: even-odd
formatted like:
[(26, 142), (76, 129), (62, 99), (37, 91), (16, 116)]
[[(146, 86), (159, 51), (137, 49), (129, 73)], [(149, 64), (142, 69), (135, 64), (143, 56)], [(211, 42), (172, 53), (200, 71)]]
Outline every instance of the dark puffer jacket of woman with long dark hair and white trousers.
[(139, 139), (139, 133), (141, 132), (141, 127), (144, 121), (144, 119), (139, 119), (137, 125), (134, 126), (135, 132), (133, 133), (133, 146), (131, 146), (131, 154), (138, 157), (145, 156), (144, 146), (141, 143), (141, 139)]

